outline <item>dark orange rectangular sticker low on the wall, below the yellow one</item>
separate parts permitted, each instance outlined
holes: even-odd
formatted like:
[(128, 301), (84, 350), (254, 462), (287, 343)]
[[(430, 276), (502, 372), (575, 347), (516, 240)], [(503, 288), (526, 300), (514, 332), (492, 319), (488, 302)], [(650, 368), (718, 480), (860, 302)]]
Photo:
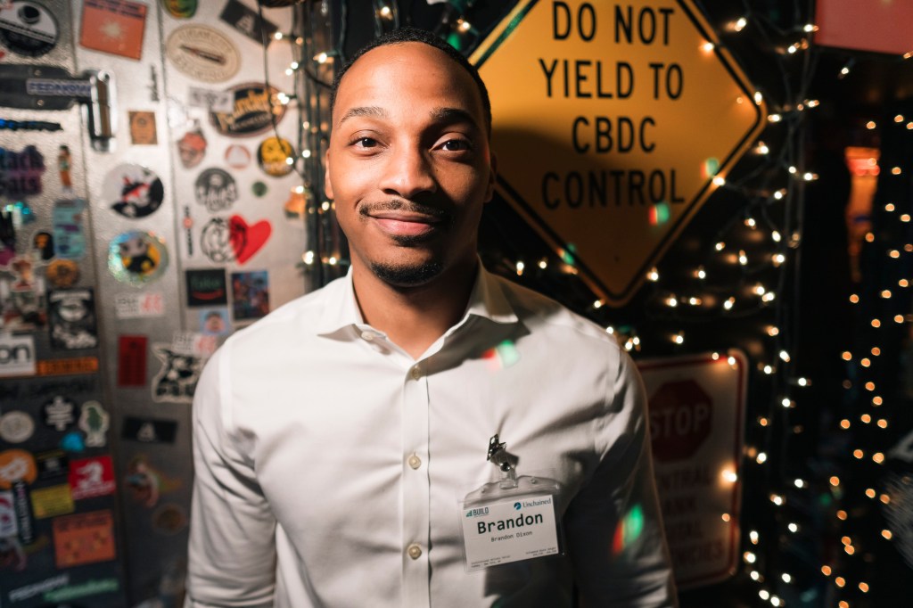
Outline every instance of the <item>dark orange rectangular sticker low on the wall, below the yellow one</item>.
[(113, 560), (114, 517), (110, 510), (54, 519), (54, 554), (58, 568)]

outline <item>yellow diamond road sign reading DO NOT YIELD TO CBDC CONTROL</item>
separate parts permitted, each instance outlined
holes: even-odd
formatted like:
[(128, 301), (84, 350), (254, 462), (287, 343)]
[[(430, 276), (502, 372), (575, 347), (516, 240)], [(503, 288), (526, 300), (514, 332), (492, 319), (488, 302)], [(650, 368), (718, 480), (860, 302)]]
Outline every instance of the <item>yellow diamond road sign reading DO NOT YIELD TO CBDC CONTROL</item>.
[(691, 0), (520, 0), (473, 54), (498, 191), (607, 303), (643, 283), (764, 126)]

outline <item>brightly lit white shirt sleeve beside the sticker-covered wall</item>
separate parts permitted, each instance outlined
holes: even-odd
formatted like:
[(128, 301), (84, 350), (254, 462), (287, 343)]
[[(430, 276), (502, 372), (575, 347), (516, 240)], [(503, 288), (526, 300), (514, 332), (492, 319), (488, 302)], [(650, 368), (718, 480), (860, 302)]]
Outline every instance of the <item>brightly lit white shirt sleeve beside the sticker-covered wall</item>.
[(194, 393), (194, 497), (184, 608), (269, 607), (276, 520), (251, 456), (233, 435), (230, 352), (206, 364)]

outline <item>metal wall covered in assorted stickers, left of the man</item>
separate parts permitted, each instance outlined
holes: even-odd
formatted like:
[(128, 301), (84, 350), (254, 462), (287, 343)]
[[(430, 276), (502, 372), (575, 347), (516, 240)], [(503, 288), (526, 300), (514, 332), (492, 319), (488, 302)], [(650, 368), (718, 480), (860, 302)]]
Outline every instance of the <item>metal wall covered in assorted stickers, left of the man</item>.
[(183, 595), (191, 401), (304, 291), (292, 8), (0, 2), (0, 604)]

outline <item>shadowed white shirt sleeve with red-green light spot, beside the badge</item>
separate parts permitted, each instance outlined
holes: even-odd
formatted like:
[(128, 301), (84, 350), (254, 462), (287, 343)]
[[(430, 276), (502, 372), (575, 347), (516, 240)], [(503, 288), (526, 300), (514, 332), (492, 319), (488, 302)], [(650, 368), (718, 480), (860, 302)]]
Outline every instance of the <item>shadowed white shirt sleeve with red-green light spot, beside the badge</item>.
[(656, 498), (646, 393), (624, 352), (609, 375), (607, 411), (596, 422), (602, 458), (564, 519), (584, 608), (677, 606)]

